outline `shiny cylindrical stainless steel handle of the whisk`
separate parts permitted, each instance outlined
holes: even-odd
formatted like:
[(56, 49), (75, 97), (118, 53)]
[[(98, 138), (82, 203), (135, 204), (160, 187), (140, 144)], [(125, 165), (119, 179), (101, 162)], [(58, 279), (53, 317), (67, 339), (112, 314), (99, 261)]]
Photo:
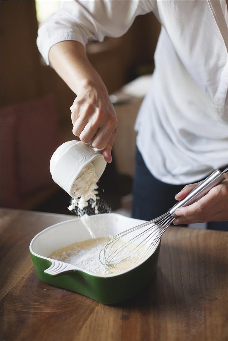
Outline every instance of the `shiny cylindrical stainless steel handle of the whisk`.
[(170, 213), (174, 218), (177, 218), (175, 211), (179, 207), (191, 205), (206, 195), (210, 189), (225, 180), (224, 175), (219, 169), (216, 169), (211, 175), (203, 180), (197, 187), (195, 187), (183, 200), (179, 201), (170, 209)]

